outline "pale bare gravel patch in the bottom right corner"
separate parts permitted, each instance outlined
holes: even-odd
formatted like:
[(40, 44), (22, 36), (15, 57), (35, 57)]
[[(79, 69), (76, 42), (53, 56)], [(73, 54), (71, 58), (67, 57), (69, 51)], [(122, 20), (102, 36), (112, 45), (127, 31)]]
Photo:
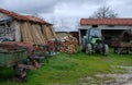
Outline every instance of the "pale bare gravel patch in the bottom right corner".
[(97, 74), (97, 77), (111, 77), (112, 81), (105, 81), (101, 85), (132, 85), (132, 66), (120, 66), (128, 72), (124, 74)]

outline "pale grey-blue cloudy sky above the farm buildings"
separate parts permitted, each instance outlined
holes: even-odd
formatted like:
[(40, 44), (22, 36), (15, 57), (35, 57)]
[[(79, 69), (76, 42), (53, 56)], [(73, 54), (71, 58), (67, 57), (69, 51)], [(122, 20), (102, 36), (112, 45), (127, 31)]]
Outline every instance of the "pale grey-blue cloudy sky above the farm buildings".
[(132, 0), (0, 0), (0, 8), (43, 17), (55, 31), (77, 31), (80, 19), (110, 7), (119, 17), (132, 17)]

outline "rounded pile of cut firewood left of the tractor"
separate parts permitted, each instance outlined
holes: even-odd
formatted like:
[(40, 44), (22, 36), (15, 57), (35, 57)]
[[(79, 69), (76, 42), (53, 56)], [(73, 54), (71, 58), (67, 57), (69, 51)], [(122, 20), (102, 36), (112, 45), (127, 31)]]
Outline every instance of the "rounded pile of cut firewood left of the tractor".
[(77, 52), (78, 41), (75, 37), (68, 35), (62, 39), (61, 51), (67, 53)]

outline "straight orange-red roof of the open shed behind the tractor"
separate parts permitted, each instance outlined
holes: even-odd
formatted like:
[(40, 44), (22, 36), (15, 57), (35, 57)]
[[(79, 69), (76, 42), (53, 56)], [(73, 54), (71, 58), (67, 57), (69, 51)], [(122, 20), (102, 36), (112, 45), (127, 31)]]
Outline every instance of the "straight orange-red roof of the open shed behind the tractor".
[(81, 19), (80, 25), (132, 25), (132, 19)]

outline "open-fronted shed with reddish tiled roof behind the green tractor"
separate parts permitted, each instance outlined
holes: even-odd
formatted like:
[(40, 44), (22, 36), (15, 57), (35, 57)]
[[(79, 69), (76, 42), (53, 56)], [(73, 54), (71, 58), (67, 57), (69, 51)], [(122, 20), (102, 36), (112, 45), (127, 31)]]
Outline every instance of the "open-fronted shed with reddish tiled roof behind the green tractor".
[(79, 44), (88, 28), (100, 28), (105, 40), (111, 44), (111, 41), (118, 40), (123, 32), (132, 33), (132, 19), (81, 19)]

